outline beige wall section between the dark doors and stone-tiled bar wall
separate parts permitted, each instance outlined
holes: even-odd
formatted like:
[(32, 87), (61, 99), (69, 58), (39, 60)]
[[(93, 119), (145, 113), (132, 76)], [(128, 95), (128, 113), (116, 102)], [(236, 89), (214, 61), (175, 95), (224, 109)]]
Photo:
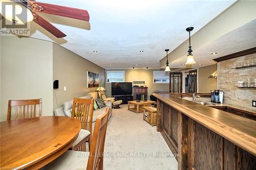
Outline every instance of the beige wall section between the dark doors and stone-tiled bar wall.
[(210, 93), (210, 90), (217, 89), (217, 79), (208, 78), (217, 70), (217, 64), (198, 69), (198, 92)]

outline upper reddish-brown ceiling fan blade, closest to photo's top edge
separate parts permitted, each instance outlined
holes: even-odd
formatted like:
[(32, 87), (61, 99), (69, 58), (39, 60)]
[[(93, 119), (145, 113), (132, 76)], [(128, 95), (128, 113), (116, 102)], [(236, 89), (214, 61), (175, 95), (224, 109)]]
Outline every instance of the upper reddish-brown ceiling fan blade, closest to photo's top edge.
[(35, 1), (27, 1), (28, 5), (32, 7), (34, 12), (42, 12), (52, 15), (65, 16), (69, 18), (89, 21), (90, 16), (87, 10), (81, 10), (70, 7), (63, 7), (59, 5), (38, 3)]

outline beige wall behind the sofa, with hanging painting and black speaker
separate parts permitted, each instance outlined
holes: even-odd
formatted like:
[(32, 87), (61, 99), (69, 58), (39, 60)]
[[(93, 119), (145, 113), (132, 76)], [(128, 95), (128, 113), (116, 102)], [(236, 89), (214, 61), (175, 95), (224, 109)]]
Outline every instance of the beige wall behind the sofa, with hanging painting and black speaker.
[[(97, 89), (87, 88), (87, 71), (99, 74), (99, 85), (104, 86), (105, 70), (103, 68), (53, 43), (53, 81), (59, 80), (59, 88), (53, 90), (53, 109), (58, 105), (62, 106), (63, 101)], [(67, 86), (67, 91), (63, 90), (64, 86)], [(55, 92), (57, 98), (55, 98)]]

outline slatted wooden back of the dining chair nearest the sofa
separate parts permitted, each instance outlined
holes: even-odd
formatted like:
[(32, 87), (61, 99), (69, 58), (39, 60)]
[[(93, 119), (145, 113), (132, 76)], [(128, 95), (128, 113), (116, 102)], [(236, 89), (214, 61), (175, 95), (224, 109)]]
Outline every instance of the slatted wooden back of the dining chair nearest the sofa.
[(82, 129), (86, 129), (91, 132), (93, 120), (93, 99), (74, 98), (71, 117), (76, 118), (81, 123)]

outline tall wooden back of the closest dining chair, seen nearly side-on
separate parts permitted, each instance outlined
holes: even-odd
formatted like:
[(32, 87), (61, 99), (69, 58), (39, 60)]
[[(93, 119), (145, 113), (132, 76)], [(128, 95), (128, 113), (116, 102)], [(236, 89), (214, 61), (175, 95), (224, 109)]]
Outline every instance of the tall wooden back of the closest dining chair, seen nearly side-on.
[(110, 108), (107, 107), (105, 113), (96, 119), (87, 170), (103, 169), (103, 152), (109, 112)]

